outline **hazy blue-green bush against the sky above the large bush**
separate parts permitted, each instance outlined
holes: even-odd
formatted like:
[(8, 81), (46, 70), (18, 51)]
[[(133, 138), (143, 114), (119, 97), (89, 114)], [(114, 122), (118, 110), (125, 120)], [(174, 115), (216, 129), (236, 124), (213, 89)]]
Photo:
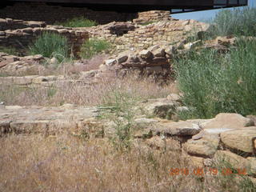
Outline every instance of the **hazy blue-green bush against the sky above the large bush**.
[(221, 10), (211, 22), (215, 24), (211, 31), (213, 35), (255, 36), (256, 8)]

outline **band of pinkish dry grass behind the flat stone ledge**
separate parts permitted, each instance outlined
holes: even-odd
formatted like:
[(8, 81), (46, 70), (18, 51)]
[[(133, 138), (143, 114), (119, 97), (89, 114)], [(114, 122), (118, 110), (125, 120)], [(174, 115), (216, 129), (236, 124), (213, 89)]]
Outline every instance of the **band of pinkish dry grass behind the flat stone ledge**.
[[(85, 80), (87, 81), (87, 80)], [(118, 79), (110, 73), (98, 83), (85, 86), (83, 83), (58, 83), (51, 87), (21, 88), (14, 85), (0, 84), (0, 101), (6, 105), (18, 106), (60, 106), (63, 103), (76, 105), (102, 104), (106, 94), (113, 90), (123, 90), (135, 97), (143, 99), (162, 98), (176, 90), (175, 84), (158, 86), (149, 78), (135, 79), (134, 77)]]

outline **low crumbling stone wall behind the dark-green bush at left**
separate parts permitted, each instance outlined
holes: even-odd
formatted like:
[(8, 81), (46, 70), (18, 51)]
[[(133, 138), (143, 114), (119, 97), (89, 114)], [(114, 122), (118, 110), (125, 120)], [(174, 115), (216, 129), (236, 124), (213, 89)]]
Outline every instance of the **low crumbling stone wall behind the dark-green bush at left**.
[[(65, 28), (62, 26), (46, 26), (44, 22), (23, 22), (22, 20), (1, 19), (0, 26), (2, 27), (1, 29), (3, 29), (0, 30), (0, 46), (17, 48), (21, 53), (26, 53), (27, 47), (30, 46), (42, 32), (64, 35), (68, 39), (69, 46), (74, 56), (77, 56), (82, 43), (89, 38), (89, 34), (86, 30)], [(9, 26), (10, 29), (22, 28), (6, 30)]]

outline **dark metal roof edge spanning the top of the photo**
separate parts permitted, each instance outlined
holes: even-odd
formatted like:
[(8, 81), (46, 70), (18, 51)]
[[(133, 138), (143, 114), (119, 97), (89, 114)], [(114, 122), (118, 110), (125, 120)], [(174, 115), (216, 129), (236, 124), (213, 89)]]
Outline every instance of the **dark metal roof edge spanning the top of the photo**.
[(62, 6), (87, 6), (99, 10), (128, 12), (171, 10), (172, 14), (248, 5), (248, 0), (6, 0), (6, 2), (46, 2)]

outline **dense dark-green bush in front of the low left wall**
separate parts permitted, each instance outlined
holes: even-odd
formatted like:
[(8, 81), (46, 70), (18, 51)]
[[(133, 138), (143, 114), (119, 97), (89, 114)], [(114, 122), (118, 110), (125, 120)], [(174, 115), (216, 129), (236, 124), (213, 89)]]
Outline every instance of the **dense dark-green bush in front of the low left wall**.
[(42, 54), (46, 58), (57, 58), (62, 62), (68, 57), (67, 38), (60, 34), (45, 32), (29, 47), (30, 54)]

